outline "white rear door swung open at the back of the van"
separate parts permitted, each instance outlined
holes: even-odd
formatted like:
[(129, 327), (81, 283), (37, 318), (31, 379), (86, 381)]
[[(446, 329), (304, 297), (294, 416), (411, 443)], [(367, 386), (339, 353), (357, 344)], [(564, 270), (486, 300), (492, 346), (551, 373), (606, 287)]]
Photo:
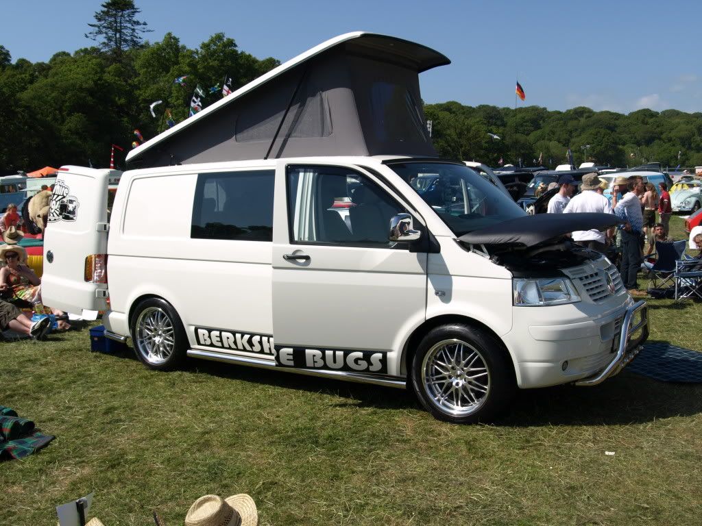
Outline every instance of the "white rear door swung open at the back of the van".
[(58, 172), (44, 232), (44, 304), (94, 319), (107, 309), (107, 184), (116, 170)]

